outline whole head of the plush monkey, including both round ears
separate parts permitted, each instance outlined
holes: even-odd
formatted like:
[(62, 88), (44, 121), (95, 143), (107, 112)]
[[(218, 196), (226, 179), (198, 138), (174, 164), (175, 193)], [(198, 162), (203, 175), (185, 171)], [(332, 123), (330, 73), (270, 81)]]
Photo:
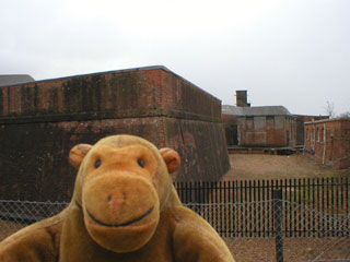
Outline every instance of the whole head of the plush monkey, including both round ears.
[(174, 191), (170, 172), (179, 166), (178, 154), (138, 136), (114, 135), (74, 146), (69, 159), (79, 168), (73, 201), (92, 239), (120, 253), (143, 247)]

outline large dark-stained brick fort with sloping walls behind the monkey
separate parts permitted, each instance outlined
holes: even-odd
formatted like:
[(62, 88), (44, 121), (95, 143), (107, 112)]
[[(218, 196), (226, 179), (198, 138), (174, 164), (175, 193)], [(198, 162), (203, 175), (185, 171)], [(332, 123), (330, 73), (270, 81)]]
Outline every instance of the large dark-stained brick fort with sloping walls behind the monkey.
[(182, 156), (177, 180), (217, 180), (230, 168), (221, 102), (164, 67), (0, 88), (0, 199), (69, 200), (69, 150), (136, 134)]

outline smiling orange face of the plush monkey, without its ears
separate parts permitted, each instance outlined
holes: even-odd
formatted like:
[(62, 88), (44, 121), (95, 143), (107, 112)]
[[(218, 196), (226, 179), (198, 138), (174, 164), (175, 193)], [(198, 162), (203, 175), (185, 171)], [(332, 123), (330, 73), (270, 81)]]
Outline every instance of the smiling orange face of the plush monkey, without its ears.
[(82, 190), (86, 229), (108, 250), (135, 251), (150, 240), (160, 218), (155, 158), (142, 145), (91, 153)]

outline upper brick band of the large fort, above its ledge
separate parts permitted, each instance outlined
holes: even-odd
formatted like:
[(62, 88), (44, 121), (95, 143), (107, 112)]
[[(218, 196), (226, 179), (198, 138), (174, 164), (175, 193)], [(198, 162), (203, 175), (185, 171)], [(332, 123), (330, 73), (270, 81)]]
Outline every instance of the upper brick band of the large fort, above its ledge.
[(168, 116), (220, 121), (221, 102), (156, 68), (1, 87), (0, 121), (32, 122)]

